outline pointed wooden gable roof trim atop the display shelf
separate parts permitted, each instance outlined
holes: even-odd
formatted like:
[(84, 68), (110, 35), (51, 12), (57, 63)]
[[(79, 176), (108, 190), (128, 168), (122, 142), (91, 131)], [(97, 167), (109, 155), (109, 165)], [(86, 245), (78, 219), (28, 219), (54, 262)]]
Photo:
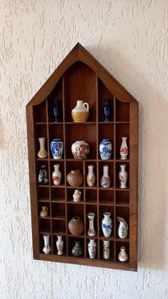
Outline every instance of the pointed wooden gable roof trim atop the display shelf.
[(70, 68), (76, 61), (81, 61), (90, 69), (95, 71), (101, 81), (105, 84), (107, 89), (112, 93), (117, 99), (126, 103), (137, 102), (131, 94), (125, 90), (120, 83), (115, 80), (115, 78), (106, 71), (106, 69), (87, 51), (80, 43), (76, 44), (70, 53), (63, 59), (61, 64), (58, 66), (56, 71), (51, 74), (48, 80), (43, 84), (35, 96), (29, 101), (27, 106), (35, 106), (42, 103), (48, 95), (53, 91), (53, 88), (58, 83), (59, 79), (67, 69)]

